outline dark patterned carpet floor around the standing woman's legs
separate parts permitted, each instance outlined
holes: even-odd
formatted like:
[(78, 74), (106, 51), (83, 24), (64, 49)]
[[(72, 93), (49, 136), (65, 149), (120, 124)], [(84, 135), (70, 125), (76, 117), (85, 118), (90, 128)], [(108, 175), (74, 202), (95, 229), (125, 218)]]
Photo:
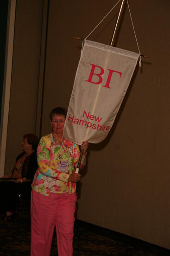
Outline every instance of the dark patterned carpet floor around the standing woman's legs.
[[(73, 256), (170, 256), (170, 250), (121, 235), (108, 229), (76, 220)], [(0, 216), (0, 256), (30, 255), (30, 216), (22, 209), (11, 222)], [(57, 256), (56, 232), (54, 232), (51, 254)]]

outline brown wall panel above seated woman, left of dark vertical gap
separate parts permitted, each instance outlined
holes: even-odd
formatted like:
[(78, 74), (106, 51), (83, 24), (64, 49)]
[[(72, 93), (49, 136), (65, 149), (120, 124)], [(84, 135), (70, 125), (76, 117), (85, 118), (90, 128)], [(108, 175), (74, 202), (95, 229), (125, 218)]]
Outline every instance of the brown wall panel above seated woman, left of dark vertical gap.
[(22, 151), (23, 135), (35, 132), (42, 7), (42, 0), (17, 1), (5, 172)]

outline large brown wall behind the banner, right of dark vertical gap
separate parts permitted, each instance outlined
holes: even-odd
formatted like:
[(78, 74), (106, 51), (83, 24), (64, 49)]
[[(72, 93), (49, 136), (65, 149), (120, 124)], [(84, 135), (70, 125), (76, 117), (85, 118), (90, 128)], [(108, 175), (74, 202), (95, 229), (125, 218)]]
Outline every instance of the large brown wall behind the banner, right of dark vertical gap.
[[(50, 0), (42, 135), (50, 132), (51, 108), (69, 104), (81, 49), (74, 36), (87, 36), (116, 2)], [(76, 216), (170, 249), (170, 1), (129, 4), (141, 53), (150, 59), (135, 71), (107, 139), (90, 145)], [(89, 40), (110, 43), (118, 10)], [(116, 46), (138, 52), (127, 8)]]

